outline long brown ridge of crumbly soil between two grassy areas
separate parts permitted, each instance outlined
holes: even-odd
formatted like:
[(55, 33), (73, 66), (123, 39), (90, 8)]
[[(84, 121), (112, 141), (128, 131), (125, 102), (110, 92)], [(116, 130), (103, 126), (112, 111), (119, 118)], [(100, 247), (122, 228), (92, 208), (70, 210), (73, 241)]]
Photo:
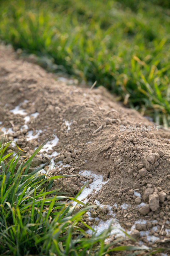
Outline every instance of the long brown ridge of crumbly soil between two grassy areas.
[(103, 86), (89, 90), (73, 79), (67, 85), (2, 45), (0, 58), (0, 137), (7, 130), (6, 140), (30, 156), (55, 134), (31, 170), (48, 162), (50, 176), (78, 174), (54, 182), (52, 189), (71, 195), (88, 181), (83, 200), (99, 206), (87, 214), (88, 225), (114, 216), (144, 244), (170, 242), (170, 131), (116, 102)]

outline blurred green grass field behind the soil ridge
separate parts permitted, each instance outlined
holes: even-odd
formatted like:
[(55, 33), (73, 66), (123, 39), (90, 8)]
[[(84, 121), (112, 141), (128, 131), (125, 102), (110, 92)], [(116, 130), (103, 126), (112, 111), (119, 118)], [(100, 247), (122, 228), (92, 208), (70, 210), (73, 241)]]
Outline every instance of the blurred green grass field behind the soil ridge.
[(0, 39), (170, 126), (170, 2), (1, 0)]

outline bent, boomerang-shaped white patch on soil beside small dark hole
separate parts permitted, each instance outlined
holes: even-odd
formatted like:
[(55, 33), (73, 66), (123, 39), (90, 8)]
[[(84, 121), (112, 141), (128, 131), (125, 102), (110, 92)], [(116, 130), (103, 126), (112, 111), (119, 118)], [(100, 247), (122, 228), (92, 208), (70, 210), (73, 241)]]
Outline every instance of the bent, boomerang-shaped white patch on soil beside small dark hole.
[[(89, 188), (85, 187), (83, 189), (83, 191), (81, 192), (81, 194), (77, 197), (78, 200), (82, 200), (85, 198), (85, 200), (83, 201), (84, 203), (87, 203), (87, 196), (89, 194), (94, 195), (97, 191), (99, 191), (102, 187), (102, 185), (106, 184), (108, 182), (107, 181), (102, 181), (103, 180), (103, 176), (100, 174), (94, 174), (91, 171), (80, 171), (79, 174), (81, 175), (85, 175), (85, 176), (89, 176), (93, 178), (93, 182), (91, 184), (89, 184)], [(76, 202), (73, 202), (73, 205), (77, 204)]]

